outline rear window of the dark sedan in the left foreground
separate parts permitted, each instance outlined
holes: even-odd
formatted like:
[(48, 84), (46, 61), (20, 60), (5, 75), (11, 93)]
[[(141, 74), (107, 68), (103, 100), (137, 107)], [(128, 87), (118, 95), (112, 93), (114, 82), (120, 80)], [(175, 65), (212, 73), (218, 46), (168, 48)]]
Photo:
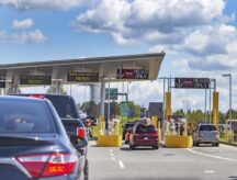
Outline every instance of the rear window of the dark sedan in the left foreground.
[(0, 100), (0, 133), (56, 133), (44, 102)]

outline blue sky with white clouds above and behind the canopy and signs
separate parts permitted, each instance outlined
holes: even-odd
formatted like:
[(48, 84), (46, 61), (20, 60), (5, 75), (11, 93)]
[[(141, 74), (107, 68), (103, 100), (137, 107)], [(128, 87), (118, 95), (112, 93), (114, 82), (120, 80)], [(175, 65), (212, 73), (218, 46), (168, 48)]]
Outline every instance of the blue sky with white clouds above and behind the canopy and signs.
[[(165, 50), (160, 76), (216, 78), (226, 110), (221, 75), (236, 76), (236, 11), (235, 0), (0, 0), (0, 64)], [(149, 86), (144, 99), (133, 99), (161, 97), (160, 82)], [(173, 92), (174, 109), (187, 99), (203, 108), (203, 92)]]

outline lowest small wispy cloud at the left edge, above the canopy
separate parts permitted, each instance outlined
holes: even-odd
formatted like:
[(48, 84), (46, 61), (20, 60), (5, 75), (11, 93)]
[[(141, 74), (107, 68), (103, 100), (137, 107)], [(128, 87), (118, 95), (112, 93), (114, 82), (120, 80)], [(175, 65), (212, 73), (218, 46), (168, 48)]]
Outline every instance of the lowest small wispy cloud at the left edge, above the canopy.
[(0, 42), (2, 43), (16, 43), (16, 44), (25, 44), (25, 43), (44, 43), (47, 41), (47, 36), (45, 36), (41, 30), (35, 31), (24, 31), (21, 33), (8, 34), (7, 32), (0, 31)]

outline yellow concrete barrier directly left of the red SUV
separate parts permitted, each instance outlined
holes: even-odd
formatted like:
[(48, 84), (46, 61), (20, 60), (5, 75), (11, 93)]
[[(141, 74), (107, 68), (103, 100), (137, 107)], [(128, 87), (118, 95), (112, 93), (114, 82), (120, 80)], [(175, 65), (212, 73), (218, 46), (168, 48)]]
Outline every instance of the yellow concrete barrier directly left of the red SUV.
[(97, 145), (99, 147), (121, 147), (122, 136), (121, 135), (99, 135)]

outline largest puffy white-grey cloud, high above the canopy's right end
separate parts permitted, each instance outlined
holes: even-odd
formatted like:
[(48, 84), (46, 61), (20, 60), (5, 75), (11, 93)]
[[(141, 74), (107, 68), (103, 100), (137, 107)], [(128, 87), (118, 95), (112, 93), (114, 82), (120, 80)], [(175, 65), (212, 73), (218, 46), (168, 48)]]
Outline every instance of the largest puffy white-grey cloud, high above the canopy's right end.
[(224, 8), (223, 0), (100, 0), (78, 15), (76, 26), (80, 31), (108, 32), (121, 45), (178, 44), (193, 29), (223, 18)]

